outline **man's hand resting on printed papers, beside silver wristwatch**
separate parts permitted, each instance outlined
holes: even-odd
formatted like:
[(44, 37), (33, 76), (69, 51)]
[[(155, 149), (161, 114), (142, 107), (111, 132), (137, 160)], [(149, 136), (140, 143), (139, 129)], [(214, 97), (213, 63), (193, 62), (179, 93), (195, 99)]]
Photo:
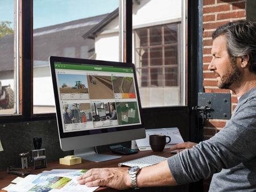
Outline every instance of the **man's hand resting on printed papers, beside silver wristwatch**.
[(77, 182), (88, 187), (106, 186), (119, 190), (132, 187), (129, 173), (122, 168), (90, 169), (77, 177)]

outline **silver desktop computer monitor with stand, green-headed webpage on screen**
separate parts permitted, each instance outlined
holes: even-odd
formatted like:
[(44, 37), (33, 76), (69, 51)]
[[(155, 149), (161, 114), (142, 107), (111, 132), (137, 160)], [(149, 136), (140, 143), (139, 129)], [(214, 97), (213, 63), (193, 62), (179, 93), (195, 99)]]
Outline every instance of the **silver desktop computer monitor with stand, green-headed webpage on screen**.
[[(89, 161), (96, 146), (146, 137), (134, 64), (49, 57), (60, 145)], [(100, 119), (104, 108), (108, 120)]]

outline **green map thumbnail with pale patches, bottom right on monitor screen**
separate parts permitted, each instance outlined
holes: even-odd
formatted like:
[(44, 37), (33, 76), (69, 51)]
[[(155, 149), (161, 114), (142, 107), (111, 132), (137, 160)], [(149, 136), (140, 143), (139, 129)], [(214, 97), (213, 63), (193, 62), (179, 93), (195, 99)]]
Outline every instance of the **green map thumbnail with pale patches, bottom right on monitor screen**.
[(140, 123), (137, 102), (115, 102), (118, 124)]

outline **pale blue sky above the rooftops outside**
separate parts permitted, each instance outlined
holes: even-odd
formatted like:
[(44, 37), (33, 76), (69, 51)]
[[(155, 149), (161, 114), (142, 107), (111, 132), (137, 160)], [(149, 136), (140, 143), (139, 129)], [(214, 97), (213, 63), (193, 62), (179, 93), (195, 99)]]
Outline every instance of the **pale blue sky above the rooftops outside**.
[[(14, 1), (0, 0), (0, 22), (14, 22)], [(34, 29), (110, 13), (118, 0), (34, 0)]]

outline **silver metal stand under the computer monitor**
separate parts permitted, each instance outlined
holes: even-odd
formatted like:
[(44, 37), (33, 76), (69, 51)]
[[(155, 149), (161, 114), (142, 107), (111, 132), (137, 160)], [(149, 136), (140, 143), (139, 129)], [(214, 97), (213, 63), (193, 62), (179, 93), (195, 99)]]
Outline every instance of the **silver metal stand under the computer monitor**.
[(114, 156), (114, 155), (102, 155), (96, 153), (96, 147), (89, 147), (84, 149), (75, 149), (74, 155), (76, 157), (81, 157), (83, 160), (94, 161), (94, 162), (102, 162), (109, 161), (115, 158), (121, 158), (122, 156)]

